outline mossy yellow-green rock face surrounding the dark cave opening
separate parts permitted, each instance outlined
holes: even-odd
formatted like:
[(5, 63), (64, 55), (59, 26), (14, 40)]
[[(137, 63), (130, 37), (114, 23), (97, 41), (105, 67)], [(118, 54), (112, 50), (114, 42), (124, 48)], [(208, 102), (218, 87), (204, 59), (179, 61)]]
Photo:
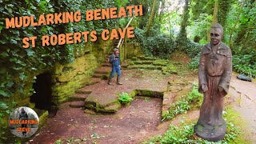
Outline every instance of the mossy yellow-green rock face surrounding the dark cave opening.
[[(97, 42), (88, 42), (86, 43), (84, 50), (81, 51), (81, 54), (76, 54), (77, 58), (74, 59), (74, 62), (65, 64), (56, 62), (54, 67), (46, 66), (45, 70), (28, 74), (30, 76), (27, 78), (27, 81), (19, 84), (24, 85), (24, 89), (15, 89), (14, 96), (11, 98), (4, 98), (2, 101), (6, 102), (8, 106), (13, 109), (19, 106), (28, 106), (37, 111), (35, 104), (30, 102), (30, 97), (34, 93), (33, 84), (35, 82), (35, 77), (39, 74), (50, 73), (52, 77), (52, 104), (58, 106), (62, 102), (66, 102), (69, 97), (74, 94), (75, 90), (90, 82), (94, 69), (106, 59), (107, 54), (112, 48), (112, 41), (98, 39)], [(14, 78), (16, 78), (15, 75)], [(20, 91), (22, 91), (22, 95), (20, 94)], [(47, 111), (40, 114), (42, 114), (44, 118), (47, 118)], [(40, 117), (40, 115), (38, 116)], [(6, 114), (0, 121), (0, 131), (2, 131), (2, 128), (7, 128), (8, 118), (9, 114)]]

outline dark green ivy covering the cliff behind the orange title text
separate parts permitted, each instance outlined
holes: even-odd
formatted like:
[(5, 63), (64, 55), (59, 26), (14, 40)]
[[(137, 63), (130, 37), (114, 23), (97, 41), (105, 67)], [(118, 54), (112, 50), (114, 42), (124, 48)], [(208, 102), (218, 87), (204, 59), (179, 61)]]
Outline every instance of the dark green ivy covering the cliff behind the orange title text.
[[(64, 46), (42, 46), (44, 35), (67, 34), (103, 29), (113, 29), (118, 18), (86, 22), (86, 10), (123, 5), (118, 1), (82, 0), (21, 0), (0, 1), (0, 99), (2, 99), (0, 118), (7, 118), (8, 112), (14, 108), (9, 99), (14, 95), (28, 96), (34, 90), (26, 91), (26, 83), (34, 82), (33, 76), (43, 71), (52, 70), (55, 62), (72, 62), (79, 54), (83, 54), (85, 42)], [(70, 22), (49, 26), (28, 26), (6, 29), (6, 18), (34, 15), (35, 21), (41, 14), (81, 11), (80, 22)], [(22, 48), (22, 38), (37, 36), (35, 48)], [(0, 135), (2, 137), (2, 134)]]

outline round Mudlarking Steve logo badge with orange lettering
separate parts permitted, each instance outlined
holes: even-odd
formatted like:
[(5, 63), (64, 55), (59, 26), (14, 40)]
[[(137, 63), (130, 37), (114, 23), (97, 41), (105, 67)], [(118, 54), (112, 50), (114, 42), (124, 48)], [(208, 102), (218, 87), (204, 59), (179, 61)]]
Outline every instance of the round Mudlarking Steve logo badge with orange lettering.
[(38, 114), (29, 107), (18, 107), (9, 117), (11, 133), (21, 138), (28, 138), (38, 130)]

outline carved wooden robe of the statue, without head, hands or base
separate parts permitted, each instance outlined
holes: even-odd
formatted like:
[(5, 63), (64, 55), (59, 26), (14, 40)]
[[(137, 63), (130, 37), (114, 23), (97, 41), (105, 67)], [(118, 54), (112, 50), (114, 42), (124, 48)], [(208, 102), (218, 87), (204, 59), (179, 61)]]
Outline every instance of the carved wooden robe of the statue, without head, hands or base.
[[(211, 46), (210, 43), (202, 46), (198, 70), (198, 90), (204, 94), (198, 120), (200, 125), (221, 126), (224, 123), (223, 97), (228, 93), (230, 86), (231, 56), (230, 48), (223, 42), (220, 42), (218, 46)], [(208, 86), (205, 93), (202, 85)], [(218, 90), (219, 86), (223, 88), (222, 91)]]

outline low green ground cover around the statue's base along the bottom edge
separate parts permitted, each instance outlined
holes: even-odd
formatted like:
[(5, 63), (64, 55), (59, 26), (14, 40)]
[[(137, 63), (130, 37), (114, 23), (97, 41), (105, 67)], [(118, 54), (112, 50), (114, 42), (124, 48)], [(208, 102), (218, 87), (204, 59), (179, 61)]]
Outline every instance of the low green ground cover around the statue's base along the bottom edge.
[(250, 143), (246, 140), (245, 134), (242, 132), (242, 118), (230, 108), (224, 112), (224, 118), (227, 122), (226, 135), (222, 141), (209, 142), (202, 138), (198, 138), (194, 134), (194, 125), (196, 122), (190, 122), (182, 126), (169, 126), (169, 129), (165, 134), (159, 134), (153, 138), (150, 138), (146, 143), (203, 143), (203, 144), (226, 144), (226, 143)]

